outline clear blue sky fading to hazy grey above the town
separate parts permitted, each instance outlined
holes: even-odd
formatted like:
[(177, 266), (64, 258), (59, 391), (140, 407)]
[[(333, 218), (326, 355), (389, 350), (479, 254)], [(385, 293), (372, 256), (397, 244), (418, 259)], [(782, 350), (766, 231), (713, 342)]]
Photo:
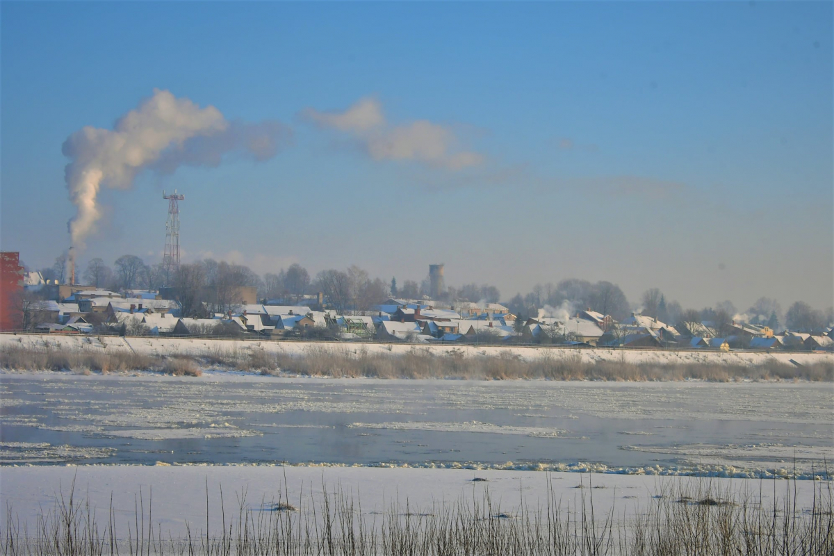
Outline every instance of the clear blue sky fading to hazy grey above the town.
[[(105, 188), (82, 261), (158, 261), (178, 188), (186, 258), (260, 273), (402, 281), (442, 261), (505, 298), (577, 277), (699, 308), (827, 307), (831, 6), (4, 2), (0, 245), (35, 267), (68, 247), (64, 140), (158, 88), (292, 142)], [(374, 158), (364, 132), (304, 116), (363, 98), (478, 163)]]

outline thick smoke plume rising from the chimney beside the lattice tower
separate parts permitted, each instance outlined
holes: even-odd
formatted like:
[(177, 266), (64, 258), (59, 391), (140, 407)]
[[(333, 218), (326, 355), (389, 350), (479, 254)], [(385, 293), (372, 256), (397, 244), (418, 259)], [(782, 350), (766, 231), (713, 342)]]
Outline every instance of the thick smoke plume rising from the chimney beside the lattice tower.
[(64, 178), (69, 198), (78, 208), (69, 221), (72, 244), (83, 247), (101, 210), (101, 188), (129, 189), (143, 170), (173, 173), (183, 165), (217, 166), (226, 153), (256, 161), (272, 158), (289, 139), (278, 122), (229, 122), (213, 106), (200, 108), (188, 98), (153, 90), (137, 108), (118, 118), (113, 129), (87, 126), (63, 143), (72, 158)]

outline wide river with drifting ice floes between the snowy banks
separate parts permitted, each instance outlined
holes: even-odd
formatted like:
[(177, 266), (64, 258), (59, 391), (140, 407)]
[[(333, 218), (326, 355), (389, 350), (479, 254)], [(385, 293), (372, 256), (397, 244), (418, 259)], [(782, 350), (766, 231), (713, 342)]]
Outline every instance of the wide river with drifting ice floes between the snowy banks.
[(831, 383), (0, 376), (0, 462), (475, 465), (803, 473)]

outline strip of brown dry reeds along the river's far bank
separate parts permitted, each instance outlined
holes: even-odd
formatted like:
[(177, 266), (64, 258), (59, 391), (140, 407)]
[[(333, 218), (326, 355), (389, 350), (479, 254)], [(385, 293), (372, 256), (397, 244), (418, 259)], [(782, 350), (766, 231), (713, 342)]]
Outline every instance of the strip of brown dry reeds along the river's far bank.
[(68, 370), (81, 373), (157, 370), (178, 376), (198, 376), (199, 367), (260, 371), (261, 374), (334, 378), (455, 378), (469, 380), (601, 380), (710, 382), (739, 380), (808, 380), (834, 382), (834, 363), (796, 367), (771, 361), (762, 365), (713, 363), (588, 363), (580, 354), (557, 357), (545, 350), (540, 357), (525, 360), (504, 350), (496, 355), (466, 355), (462, 349), (440, 352), (411, 348), (406, 353), (371, 353), (364, 346), (342, 348), (311, 345), (304, 353), (268, 352), (259, 346), (241, 349), (216, 346), (200, 356), (172, 354), (168, 357), (133, 353), (124, 349), (58, 350), (49, 346), (0, 348), (0, 368), (16, 370)]

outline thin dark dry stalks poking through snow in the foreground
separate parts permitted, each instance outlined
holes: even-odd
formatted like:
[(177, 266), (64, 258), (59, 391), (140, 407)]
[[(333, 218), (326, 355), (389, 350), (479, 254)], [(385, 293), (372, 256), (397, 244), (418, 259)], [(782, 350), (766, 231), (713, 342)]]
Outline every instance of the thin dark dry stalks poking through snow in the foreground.
[[(21, 528), (8, 508), (0, 527), (3, 554), (223, 554), (225, 556), (798, 556), (834, 553), (834, 504), (831, 483), (816, 483), (811, 508), (799, 508), (796, 484), (786, 481), (783, 495), (772, 503), (761, 492), (721, 488), (696, 479), (676, 478), (661, 493), (646, 497), (631, 518), (615, 506), (594, 507), (590, 480), (571, 500), (557, 497), (550, 480), (535, 507), (501, 508), (487, 488), (480, 497), (415, 508), (408, 500), (363, 511), (359, 499), (341, 488), (322, 493), (310, 503), (277, 503), (249, 508), (239, 495), (239, 513), (227, 521), (222, 509), (219, 530), (194, 530), (172, 538), (153, 522), (151, 508), (137, 497), (128, 519), (128, 534), (118, 538), (112, 503), (107, 523), (98, 523), (95, 508), (63, 493), (54, 509), (42, 510), (33, 531)], [(776, 483), (774, 483), (776, 484)], [(791, 490), (794, 489), (793, 491)], [(774, 490), (776, 487), (774, 486)], [(774, 492), (776, 494), (776, 492)], [(223, 505), (221, 490), (220, 505)], [(265, 501), (264, 501), (265, 502)], [(267, 508), (271, 511), (264, 511)], [(206, 511), (208, 490), (206, 492)], [(121, 523), (118, 523), (121, 525)], [(206, 526), (208, 529), (208, 525)], [(126, 538), (124, 538), (126, 537)]]

